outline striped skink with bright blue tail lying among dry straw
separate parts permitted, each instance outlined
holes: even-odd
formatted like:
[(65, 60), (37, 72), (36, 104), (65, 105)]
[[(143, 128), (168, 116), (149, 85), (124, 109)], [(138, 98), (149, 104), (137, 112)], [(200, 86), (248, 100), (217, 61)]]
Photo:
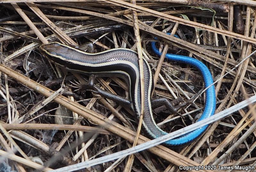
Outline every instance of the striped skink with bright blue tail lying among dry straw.
[[(138, 57), (135, 51), (132, 51), (130, 49), (117, 48), (91, 54), (57, 42), (43, 44), (39, 47), (39, 50), (51, 62), (59, 66), (63, 66), (68, 70), (76, 71), (87, 75), (117, 76), (123, 78), (128, 84), (129, 95), (132, 101), (131, 103), (129, 102), (129, 100), (126, 101), (124, 98), (121, 98), (120, 96), (112, 97), (109, 93), (107, 93), (106, 91), (104, 92), (102, 90), (99, 90), (97, 87), (94, 87), (94, 89), (96, 89), (98, 93), (102, 91), (100, 92), (101, 95), (104, 95), (107, 98), (113, 99), (114, 101), (116, 100), (117, 102), (120, 102), (123, 105), (131, 106), (132, 110), (135, 113), (136, 118), (140, 118), (140, 72)], [(201, 73), (204, 76), (205, 86), (208, 86), (212, 83), (212, 76), (207, 67), (203, 63), (198, 63), (198, 60), (188, 57), (186, 57), (186, 60), (181, 60), (183, 56), (181, 57), (175, 55), (175, 57), (177, 61), (188, 63), (193, 66), (196, 65), (196, 67), (201, 71)], [(207, 70), (208, 72), (205, 72), (205, 70)], [(154, 139), (163, 136), (167, 133), (156, 125), (156, 122), (153, 118), (151, 105), (152, 102), (156, 102), (157, 105), (166, 104), (166, 99), (160, 98), (158, 99), (159, 101), (157, 99), (151, 100), (151, 93), (154, 88), (154, 83), (152, 79), (153, 75), (148, 62), (145, 59), (143, 59), (143, 72), (145, 87), (143, 94), (145, 95), (145, 101), (142, 126), (143, 131), (146, 132), (146, 134), (150, 138)], [(91, 77), (91, 79), (93, 80), (93, 77)], [(205, 110), (200, 120), (207, 118), (208, 116), (214, 113), (215, 93), (213, 93), (214, 86), (210, 87), (206, 91)], [(170, 102), (167, 102), (167, 107), (172, 108), (168, 106), (168, 103)], [(186, 145), (193, 141), (198, 136), (200, 136), (200, 134), (202, 134), (206, 127), (197, 129), (179, 138), (169, 140), (164, 144), (171, 147)]]

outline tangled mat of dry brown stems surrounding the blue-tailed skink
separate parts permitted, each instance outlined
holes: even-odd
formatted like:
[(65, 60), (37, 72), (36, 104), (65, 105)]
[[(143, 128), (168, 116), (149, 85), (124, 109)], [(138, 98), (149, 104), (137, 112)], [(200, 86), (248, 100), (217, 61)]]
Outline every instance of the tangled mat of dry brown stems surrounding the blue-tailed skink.
[[(251, 0), (0, 0), (0, 172), (255, 171), (255, 10)], [(88, 89), (87, 75), (45, 58), (41, 45), (52, 42), (67, 45), (59, 56), (71, 59), (76, 54), (68, 47), (136, 52), (135, 92), (150, 82), (152, 95), (129, 95), (129, 83), (117, 74), (96, 77), (95, 84), (104, 93), (139, 96), (141, 114)], [(210, 87), (197, 68), (166, 54), (201, 61), (214, 82), (215, 115), (201, 122), (210, 125), (200, 137), (183, 146), (159, 145), (162, 137), (150, 141), (145, 102), (186, 105), (174, 112), (152, 103), (155, 125), (172, 133), (165, 139), (177, 137), (202, 127), (197, 120), (209, 106)]]

